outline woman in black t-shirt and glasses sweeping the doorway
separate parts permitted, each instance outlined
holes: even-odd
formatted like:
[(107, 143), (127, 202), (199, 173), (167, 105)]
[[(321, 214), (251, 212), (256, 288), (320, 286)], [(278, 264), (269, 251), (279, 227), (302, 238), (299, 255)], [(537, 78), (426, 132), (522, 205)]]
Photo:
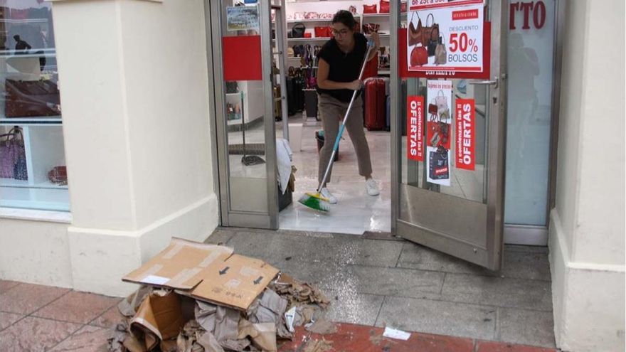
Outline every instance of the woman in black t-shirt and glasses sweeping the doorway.
[[(378, 184), (371, 177), (372, 167), (369, 146), (363, 130), (363, 100), (360, 90), (363, 83), (359, 80), (361, 65), (367, 52), (367, 39), (361, 33), (355, 33), (356, 21), (349, 11), (338, 11), (332, 20), (333, 37), (322, 46), (317, 57), (317, 107), (322, 119), (326, 143), (319, 151), (318, 182), (322, 182), (324, 172), (330, 160), (334, 140), (339, 133), (339, 124), (348, 109), (354, 90), (356, 99), (346, 121), (346, 129), (359, 161), (359, 175), (364, 176), (366, 190), (370, 196), (378, 196)], [(375, 47), (367, 60), (371, 60), (380, 46), (378, 33), (371, 38)], [(332, 171), (332, 169), (331, 169)], [(330, 179), (330, 173), (327, 180)], [(337, 203), (337, 198), (330, 193), (326, 185), (320, 190), (329, 203)]]

